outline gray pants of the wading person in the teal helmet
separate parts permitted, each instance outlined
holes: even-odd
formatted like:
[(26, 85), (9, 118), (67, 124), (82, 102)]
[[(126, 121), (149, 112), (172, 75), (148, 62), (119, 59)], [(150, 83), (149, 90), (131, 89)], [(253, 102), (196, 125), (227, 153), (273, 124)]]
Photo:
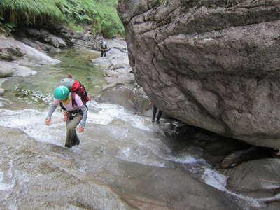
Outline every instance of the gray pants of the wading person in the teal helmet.
[(65, 146), (68, 148), (71, 148), (72, 146), (78, 145), (80, 141), (78, 140), (78, 136), (76, 134), (76, 127), (80, 123), (80, 120), (82, 120), (83, 115), (80, 113), (77, 113), (73, 116), (72, 120), (67, 120), (66, 123), (66, 142)]

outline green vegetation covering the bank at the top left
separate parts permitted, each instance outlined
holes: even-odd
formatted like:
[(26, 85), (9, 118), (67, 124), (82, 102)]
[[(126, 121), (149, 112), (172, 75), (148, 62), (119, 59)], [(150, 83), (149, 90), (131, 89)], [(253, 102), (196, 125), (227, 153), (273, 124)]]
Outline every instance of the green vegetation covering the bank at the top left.
[(80, 30), (83, 25), (93, 25), (92, 31), (111, 37), (124, 33), (117, 4), (118, 0), (1, 0), (0, 28), (6, 31), (6, 24), (52, 23)]

